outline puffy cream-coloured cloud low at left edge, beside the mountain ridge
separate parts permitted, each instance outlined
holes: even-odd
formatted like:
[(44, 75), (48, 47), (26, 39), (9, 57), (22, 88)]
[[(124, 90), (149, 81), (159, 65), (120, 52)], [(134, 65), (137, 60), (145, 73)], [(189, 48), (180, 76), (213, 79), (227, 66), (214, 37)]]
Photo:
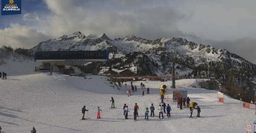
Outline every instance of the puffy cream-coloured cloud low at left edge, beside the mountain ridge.
[[(6, 44), (5, 38), (6, 35)], [(43, 31), (37, 31), (32, 27), (21, 26), (18, 23), (11, 23), (9, 28), (0, 30), (1, 46), (12, 46), (13, 48), (32, 48), (39, 42), (45, 41), (50, 38)]]

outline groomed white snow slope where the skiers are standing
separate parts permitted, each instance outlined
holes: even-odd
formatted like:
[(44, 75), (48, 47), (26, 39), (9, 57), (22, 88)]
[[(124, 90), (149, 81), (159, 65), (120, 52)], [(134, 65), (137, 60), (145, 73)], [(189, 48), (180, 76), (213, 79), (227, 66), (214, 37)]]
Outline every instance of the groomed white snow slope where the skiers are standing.
[[(225, 104), (217, 102), (217, 92), (212, 90), (192, 88), (197, 85), (194, 79), (177, 80), (177, 90), (188, 91), (192, 102), (201, 108), (201, 117), (191, 119), (188, 109), (180, 110), (171, 99), (165, 100), (172, 107), (171, 118), (158, 119), (158, 111), (154, 118), (144, 120), (146, 107), (151, 103), (157, 109), (159, 106), (159, 86), (168, 85), (166, 97), (172, 97), (169, 89), (171, 82), (143, 81), (149, 87), (150, 94), (142, 96), (141, 82), (134, 82), (137, 92), (128, 97), (126, 91), (130, 88), (121, 87), (120, 91), (111, 86), (105, 76), (70, 77), (54, 73), (38, 73), (31, 75), (9, 76), (7, 80), (0, 79), (0, 126), (2, 133), (28, 133), (35, 126), (37, 133), (241, 133), (246, 132), (246, 124), (255, 120), (255, 105), (253, 110), (241, 108), (240, 101), (225, 96)], [(185, 84), (185, 86), (184, 86)], [(113, 96), (115, 109), (110, 108)], [(219, 95), (220, 96), (220, 95)], [(123, 105), (130, 110), (128, 120), (123, 120)], [(139, 106), (137, 122), (133, 121), (133, 106)], [(89, 120), (79, 121), (81, 109), (86, 106)], [(96, 109), (100, 107), (101, 119), (96, 119)], [(194, 110), (193, 116), (196, 115)], [(85, 117), (87, 112), (85, 113)]]

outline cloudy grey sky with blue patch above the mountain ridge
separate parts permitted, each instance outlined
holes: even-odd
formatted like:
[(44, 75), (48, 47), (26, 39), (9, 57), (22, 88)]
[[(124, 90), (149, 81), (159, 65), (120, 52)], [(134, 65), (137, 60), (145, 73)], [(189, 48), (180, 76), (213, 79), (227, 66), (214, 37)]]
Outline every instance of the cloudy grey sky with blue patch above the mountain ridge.
[(111, 39), (182, 37), (256, 64), (255, 5), (255, 0), (22, 0), (22, 14), (0, 16), (0, 46), (30, 49), (77, 31)]

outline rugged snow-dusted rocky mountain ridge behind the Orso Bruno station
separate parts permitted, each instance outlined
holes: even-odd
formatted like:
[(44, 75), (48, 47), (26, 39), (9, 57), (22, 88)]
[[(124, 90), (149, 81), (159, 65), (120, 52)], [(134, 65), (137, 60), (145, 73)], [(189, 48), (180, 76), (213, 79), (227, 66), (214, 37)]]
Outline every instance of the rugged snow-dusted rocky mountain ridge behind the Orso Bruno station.
[[(191, 65), (198, 65), (209, 61), (235, 60), (238, 63), (246, 61), (225, 49), (216, 50), (212, 46), (196, 44), (183, 38), (162, 37), (156, 40), (148, 40), (129, 35), (125, 38), (115, 38), (112, 40), (104, 33), (86, 37), (81, 32), (75, 32), (71, 35), (64, 35), (40, 42), (37, 46), (30, 49), (31, 52), (77, 50), (110, 50), (110, 58), (119, 58), (130, 52), (152, 53), (169, 57), (177, 56), (182, 60), (190, 58)], [(235, 64), (233, 65), (235, 66)]]

